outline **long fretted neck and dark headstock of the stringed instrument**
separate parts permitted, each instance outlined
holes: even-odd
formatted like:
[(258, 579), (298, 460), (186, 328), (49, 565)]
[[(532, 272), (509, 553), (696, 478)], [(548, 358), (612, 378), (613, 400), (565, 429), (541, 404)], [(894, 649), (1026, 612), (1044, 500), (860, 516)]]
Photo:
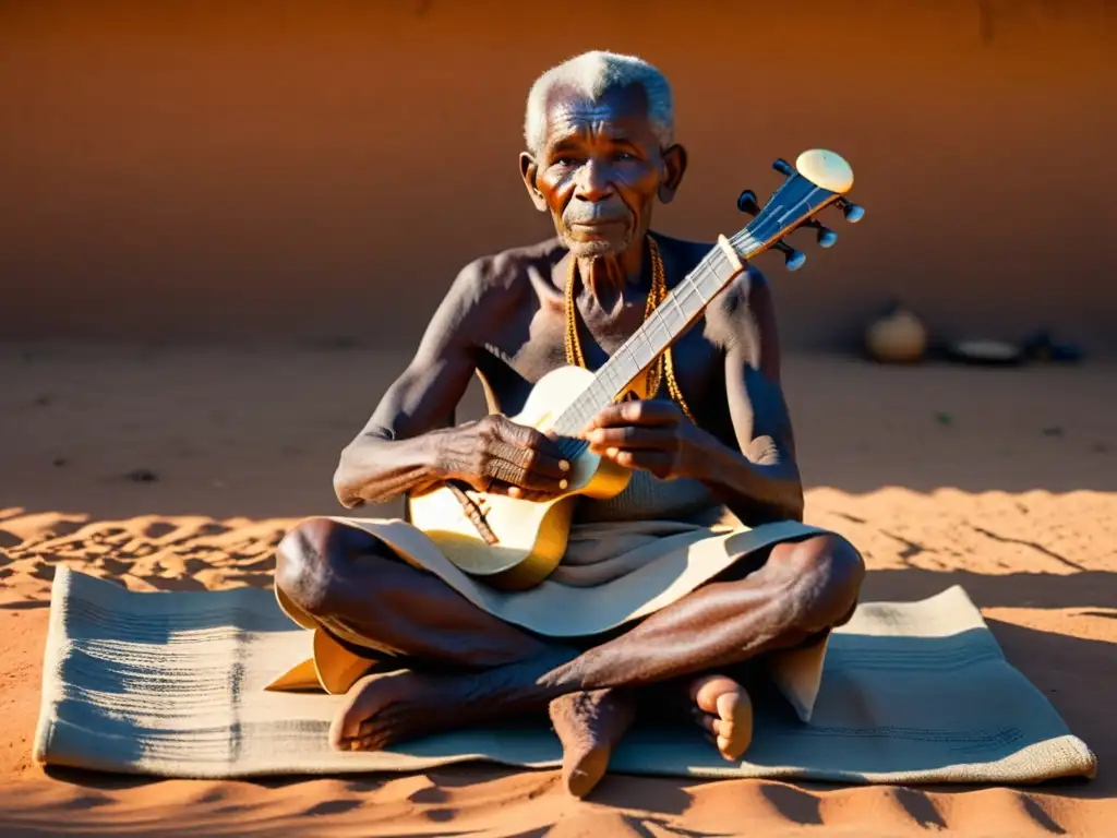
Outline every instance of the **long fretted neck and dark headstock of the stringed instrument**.
[(586, 444), (575, 437), (603, 408), (666, 352), (700, 316), (707, 305), (741, 273), (739, 263), (771, 248), (782, 236), (832, 203), (838, 194), (798, 172), (772, 194), (756, 218), (728, 239), (737, 258), (718, 246), (679, 282), (643, 324), (595, 371), (593, 381), (556, 419), (564, 456), (574, 457)]

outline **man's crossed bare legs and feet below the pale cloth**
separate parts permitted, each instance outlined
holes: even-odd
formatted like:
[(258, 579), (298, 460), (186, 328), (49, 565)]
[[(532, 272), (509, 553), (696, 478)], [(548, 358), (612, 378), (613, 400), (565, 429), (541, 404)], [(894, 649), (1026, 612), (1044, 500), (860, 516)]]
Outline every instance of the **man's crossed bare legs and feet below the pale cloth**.
[(407, 661), (353, 686), (331, 731), (335, 747), (380, 749), (550, 707), (567, 788), (581, 794), (631, 723), (639, 687), (681, 680), (698, 723), (725, 756), (739, 756), (751, 739), (748, 697), (720, 673), (841, 625), (863, 573), (837, 536), (777, 544), (754, 572), (709, 582), (589, 649), (504, 622), (328, 518), (304, 521), (283, 540), (276, 584), (327, 626)]

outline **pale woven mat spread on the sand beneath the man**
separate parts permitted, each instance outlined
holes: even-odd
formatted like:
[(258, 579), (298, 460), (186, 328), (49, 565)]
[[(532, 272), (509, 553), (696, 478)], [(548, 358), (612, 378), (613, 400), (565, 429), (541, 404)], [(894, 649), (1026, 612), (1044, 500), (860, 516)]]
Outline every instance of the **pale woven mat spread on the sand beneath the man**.
[[(558, 764), (543, 715), (534, 726), (391, 752), (332, 751), (341, 696), (264, 689), (307, 658), (311, 637), (271, 591), (137, 593), (59, 566), (35, 758), (180, 778)], [(861, 604), (830, 640), (810, 723), (779, 694), (757, 696), (747, 760), (727, 763), (697, 727), (680, 726), (633, 730), (610, 763), (639, 774), (862, 783), (1020, 783), (1096, 768), (957, 587), (920, 602)]]

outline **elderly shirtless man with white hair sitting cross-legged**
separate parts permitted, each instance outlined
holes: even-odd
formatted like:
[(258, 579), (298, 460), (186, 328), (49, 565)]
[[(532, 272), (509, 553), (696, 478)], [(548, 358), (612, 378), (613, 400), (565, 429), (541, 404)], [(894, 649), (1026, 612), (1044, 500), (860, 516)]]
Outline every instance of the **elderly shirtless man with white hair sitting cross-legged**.
[[(526, 499), (558, 493), (569, 464), (555, 440), (506, 417), (556, 366), (596, 369), (639, 327), (649, 295), (662, 295), (657, 282), (669, 291), (712, 247), (649, 230), (687, 165), (670, 87), (651, 65), (609, 53), (570, 59), (533, 86), (525, 128), (524, 184), (557, 236), (458, 274), (414, 359), (342, 454), (334, 486), (345, 507), (451, 478)], [(493, 413), (443, 427), (474, 374)], [(575, 530), (710, 508), (757, 531), (802, 520), (775, 315), (755, 270), (710, 303), (642, 396), (586, 427), (593, 450), (633, 477), (613, 501), (582, 499)], [(752, 715), (734, 673), (848, 620), (863, 577), (849, 543), (804, 527), (627, 625), (555, 638), (479, 608), (374, 532), (308, 518), (278, 550), (276, 585), (293, 608), (397, 663), (349, 689), (334, 746), (380, 749), (550, 707), (579, 796), (652, 688), (675, 691), (714, 746), (741, 756)]]

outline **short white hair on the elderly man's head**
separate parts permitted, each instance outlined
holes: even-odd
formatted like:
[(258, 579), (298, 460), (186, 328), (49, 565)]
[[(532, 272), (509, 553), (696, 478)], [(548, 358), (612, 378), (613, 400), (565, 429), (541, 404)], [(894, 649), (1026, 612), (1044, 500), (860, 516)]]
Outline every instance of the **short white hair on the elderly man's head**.
[(556, 86), (571, 87), (591, 99), (614, 87), (638, 84), (648, 97), (648, 118), (661, 149), (675, 142), (675, 103), (671, 86), (656, 67), (642, 58), (593, 50), (569, 58), (552, 67), (532, 85), (527, 94), (524, 140), (527, 150), (537, 154), (547, 132), (547, 95)]

